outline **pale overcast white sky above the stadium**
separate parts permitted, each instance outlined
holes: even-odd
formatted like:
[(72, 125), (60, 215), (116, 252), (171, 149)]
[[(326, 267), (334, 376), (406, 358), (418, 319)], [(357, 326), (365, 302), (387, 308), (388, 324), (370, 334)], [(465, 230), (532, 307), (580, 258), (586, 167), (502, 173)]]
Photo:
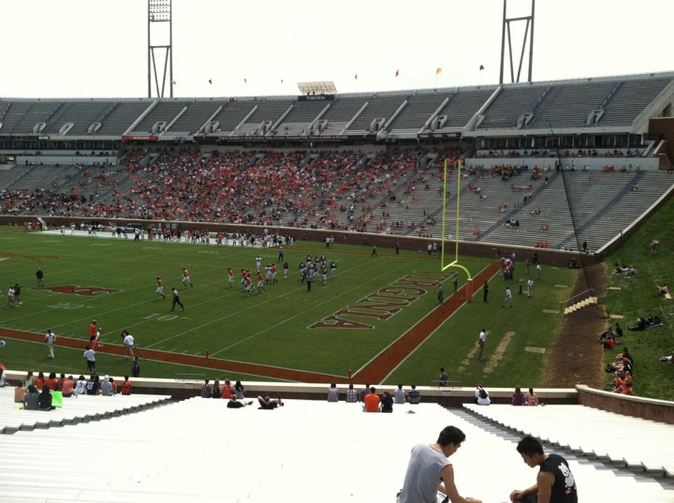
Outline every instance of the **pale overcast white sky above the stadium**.
[[(508, 17), (530, 8), (508, 0)], [(173, 92), (297, 95), (297, 82), (326, 80), (340, 93), (494, 84), (502, 15), (501, 0), (173, 0)], [(670, 0), (538, 0), (533, 79), (674, 70), (673, 18)], [(147, 96), (146, 0), (2, 0), (0, 20), (0, 96)], [(513, 23), (515, 65), (523, 29)], [(164, 43), (159, 27), (156, 35)]]

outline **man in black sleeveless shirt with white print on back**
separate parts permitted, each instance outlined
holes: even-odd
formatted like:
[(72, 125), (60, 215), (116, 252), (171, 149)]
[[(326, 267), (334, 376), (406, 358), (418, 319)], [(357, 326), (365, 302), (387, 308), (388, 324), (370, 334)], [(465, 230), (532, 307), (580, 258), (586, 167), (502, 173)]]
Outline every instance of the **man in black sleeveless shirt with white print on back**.
[(525, 436), (517, 444), (517, 452), (531, 468), (539, 467), (536, 483), (510, 493), (511, 502), (578, 503), (576, 481), (569, 463), (556, 454), (546, 454), (536, 438)]

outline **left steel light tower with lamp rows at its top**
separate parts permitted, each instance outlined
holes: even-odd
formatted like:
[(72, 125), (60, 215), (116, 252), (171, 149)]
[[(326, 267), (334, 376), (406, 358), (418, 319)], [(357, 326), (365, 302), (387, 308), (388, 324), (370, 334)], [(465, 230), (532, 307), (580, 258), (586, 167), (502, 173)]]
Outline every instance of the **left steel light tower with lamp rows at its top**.
[[(164, 98), (166, 73), (173, 98), (173, 13), (172, 0), (147, 0), (147, 97), (152, 98), (152, 77), (157, 98)], [(167, 30), (168, 27), (168, 30)], [(163, 49), (163, 51), (162, 51)], [(159, 70), (157, 70), (159, 62)], [(161, 73), (161, 87), (159, 74)]]

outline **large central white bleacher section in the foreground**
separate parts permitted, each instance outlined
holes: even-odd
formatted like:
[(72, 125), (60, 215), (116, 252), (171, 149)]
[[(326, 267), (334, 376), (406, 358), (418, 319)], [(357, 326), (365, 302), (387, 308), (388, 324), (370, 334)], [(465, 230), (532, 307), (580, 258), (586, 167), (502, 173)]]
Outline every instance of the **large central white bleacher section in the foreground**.
[[(406, 412), (414, 410), (414, 414)], [(229, 410), (225, 400), (181, 403), (68, 429), (2, 438), (0, 495), (13, 502), (393, 502), (410, 449), (452, 424), (467, 436), (456, 455), (463, 496), (504, 503), (531, 485), (512, 440), (438, 405), (394, 405), (366, 414), (357, 403), (287, 400), (277, 410)], [(36, 452), (75, 460), (77, 469), (40, 471)], [(489, 471), (485, 462), (498, 469)], [(671, 502), (650, 478), (617, 476), (567, 457), (581, 501)], [(79, 460), (79, 462), (77, 462)]]

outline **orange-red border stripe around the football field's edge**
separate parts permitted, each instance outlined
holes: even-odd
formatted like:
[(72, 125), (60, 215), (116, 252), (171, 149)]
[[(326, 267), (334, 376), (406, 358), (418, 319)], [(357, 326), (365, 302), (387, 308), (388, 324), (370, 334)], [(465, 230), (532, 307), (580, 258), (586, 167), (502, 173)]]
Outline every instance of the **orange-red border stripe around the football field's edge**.
[[(473, 277), (473, 285), (477, 292), (485, 280), (490, 279), (498, 273), (499, 264), (491, 263), (480, 273)], [(370, 360), (359, 372), (353, 375), (350, 380), (348, 376), (336, 376), (332, 374), (322, 374), (320, 372), (307, 372), (303, 370), (286, 369), (283, 367), (274, 367), (272, 365), (257, 365), (255, 363), (237, 362), (232, 360), (222, 360), (220, 358), (206, 358), (199, 355), (185, 355), (181, 353), (170, 353), (169, 351), (159, 351), (156, 349), (140, 348), (140, 352), (147, 360), (157, 362), (176, 363), (178, 365), (190, 365), (192, 367), (201, 367), (213, 370), (224, 370), (227, 372), (239, 372), (260, 377), (273, 377), (275, 379), (284, 379), (286, 381), (308, 382), (308, 383), (332, 383), (348, 384), (354, 382), (380, 383), (395, 368), (402, 363), (420, 344), (444, 323), (447, 318), (454, 314), (458, 308), (465, 303), (465, 285), (458, 289), (456, 294), (451, 295), (442, 306), (430, 311), (421, 320), (419, 320), (407, 332), (392, 342), (387, 348), (378, 353)], [(20, 339), (23, 341), (32, 341), (44, 344), (44, 334), (27, 332), (10, 328), (0, 328), (0, 337), (7, 339)], [(87, 341), (83, 339), (74, 339), (72, 337), (58, 337), (56, 346), (75, 348), (84, 351)], [(124, 346), (117, 344), (104, 344), (99, 347), (97, 353), (107, 355), (125, 356), (128, 354)]]

